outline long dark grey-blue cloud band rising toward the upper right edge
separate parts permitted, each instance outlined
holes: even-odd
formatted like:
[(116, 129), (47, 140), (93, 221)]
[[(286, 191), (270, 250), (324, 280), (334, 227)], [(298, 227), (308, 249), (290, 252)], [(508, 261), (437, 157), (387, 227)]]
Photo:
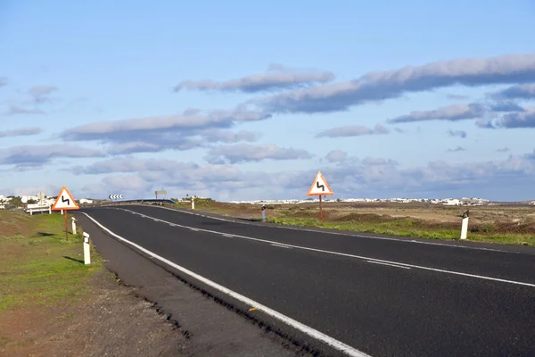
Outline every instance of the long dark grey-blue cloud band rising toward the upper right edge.
[(339, 112), (347, 111), (354, 105), (440, 87), (478, 87), (533, 81), (535, 54), (511, 54), (371, 72), (352, 81), (293, 90), (253, 99), (250, 103), (258, 104), (267, 112)]

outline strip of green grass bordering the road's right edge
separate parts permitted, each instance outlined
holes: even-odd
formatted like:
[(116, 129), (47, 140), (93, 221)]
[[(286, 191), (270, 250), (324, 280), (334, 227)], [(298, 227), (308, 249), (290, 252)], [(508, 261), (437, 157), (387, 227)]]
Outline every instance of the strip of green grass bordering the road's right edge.
[[(391, 220), (375, 221), (348, 221), (333, 222), (321, 221), (314, 218), (300, 217), (271, 217), (268, 221), (281, 225), (332, 228), (357, 232), (384, 234), (389, 236), (404, 236), (416, 238), (451, 239), (457, 240), (460, 236), (458, 229), (452, 228), (420, 228), (417, 220)], [(530, 234), (481, 234), (468, 233), (468, 240), (477, 242), (499, 243), (505, 245), (531, 245), (535, 246), (535, 235)]]

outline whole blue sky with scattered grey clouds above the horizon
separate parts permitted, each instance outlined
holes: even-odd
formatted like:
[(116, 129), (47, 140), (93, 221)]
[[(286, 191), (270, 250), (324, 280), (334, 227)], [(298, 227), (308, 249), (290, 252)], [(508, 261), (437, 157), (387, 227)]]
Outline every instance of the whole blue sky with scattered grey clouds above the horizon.
[[(0, 3), (0, 193), (535, 198), (530, 1)], [(59, 192), (59, 191), (58, 191)]]

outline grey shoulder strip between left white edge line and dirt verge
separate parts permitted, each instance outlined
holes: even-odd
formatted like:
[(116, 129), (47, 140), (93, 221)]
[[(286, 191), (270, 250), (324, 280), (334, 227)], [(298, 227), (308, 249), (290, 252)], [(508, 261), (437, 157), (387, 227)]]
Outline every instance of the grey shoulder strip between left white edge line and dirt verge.
[(246, 320), (235, 311), (215, 303), (210, 296), (192, 289), (169, 271), (121, 244), (78, 214), (91, 234), (106, 268), (136, 295), (155, 303), (187, 337), (185, 355), (199, 356), (295, 356), (307, 355), (275, 333)]

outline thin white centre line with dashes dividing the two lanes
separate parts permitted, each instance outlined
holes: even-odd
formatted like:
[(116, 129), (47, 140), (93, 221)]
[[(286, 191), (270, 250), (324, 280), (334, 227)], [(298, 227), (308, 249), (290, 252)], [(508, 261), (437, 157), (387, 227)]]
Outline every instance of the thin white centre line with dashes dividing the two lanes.
[[(128, 211), (125, 208), (120, 208), (119, 210)], [(153, 218), (151, 216), (147, 216), (147, 215), (142, 214), (142, 213), (140, 213), (140, 215), (142, 217), (145, 217), (145, 218), (150, 219), (150, 220), (159, 220), (162, 223), (169, 223), (167, 220), (155, 219), (155, 218)], [(183, 225), (180, 225), (180, 224), (177, 224), (177, 227), (197, 230), (197, 231), (201, 231), (201, 232), (213, 233), (213, 234), (216, 234), (218, 236), (226, 235), (226, 233), (218, 232), (217, 230), (202, 229), (202, 228), (191, 228), (189, 226), (183, 226)], [(281, 244), (280, 242), (276, 242), (276, 241), (272, 241), (272, 240), (268, 240), (268, 239), (259, 239), (259, 238), (253, 238), (253, 237), (247, 237), (247, 236), (239, 236), (239, 235), (233, 235), (233, 237), (234, 238), (241, 238), (241, 239), (248, 239), (248, 240), (252, 240), (252, 241), (256, 241), (256, 242), (263, 242), (263, 243), (268, 243), (268, 244), (279, 244), (279, 245)], [(507, 283), (507, 284), (535, 287), (535, 284), (524, 283), (523, 281), (507, 280), (507, 279), (502, 279), (502, 278), (492, 278), (492, 277), (486, 277), (486, 276), (483, 276), (483, 275), (463, 273), (463, 272), (454, 271), (454, 270), (444, 270), (444, 269), (438, 269), (438, 268), (424, 267), (422, 265), (407, 264), (405, 262), (391, 262), (391, 261), (385, 261), (383, 259), (366, 257), (366, 256), (362, 256), (362, 255), (355, 255), (355, 254), (341, 253), (341, 252), (333, 252), (333, 251), (325, 251), (323, 249), (317, 249), (317, 248), (309, 248), (308, 246), (289, 245), (289, 244), (286, 244), (286, 243), (282, 243), (282, 244), (286, 245), (286, 246), (289, 246), (289, 247), (292, 247), (292, 248), (295, 248), (295, 249), (302, 249), (302, 250), (318, 252), (318, 253), (327, 253), (327, 254), (333, 254), (333, 255), (340, 255), (340, 256), (349, 257), (349, 258), (362, 259), (364, 261), (384, 262), (384, 263), (388, 263), (388, 264), (402, 265), (404, 267), (416, 268), (416, 269), (421, 269), (421, 270), (437, 271), (437, 272), (440, 272), (440, 273), (459, 275), (459, 276), (469, 277), (469, 278), (480, 278), (480, 279), (484, 279), (484, 280), (499, 281), (500, 283)]]

